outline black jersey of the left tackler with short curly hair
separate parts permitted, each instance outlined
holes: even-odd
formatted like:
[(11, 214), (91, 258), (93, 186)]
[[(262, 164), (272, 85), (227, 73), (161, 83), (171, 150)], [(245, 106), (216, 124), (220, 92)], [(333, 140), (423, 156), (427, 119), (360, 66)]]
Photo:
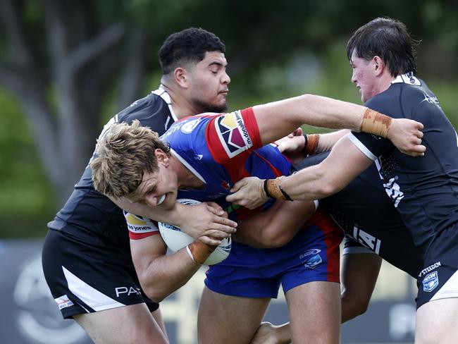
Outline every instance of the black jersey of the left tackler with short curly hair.
[[(159, 87), (147, 97), (133, 102), (106, 123), (101, 135), (113, 123), (132, 123), (139, 120), (144, 126), (162, 135), (176, 121), (168, 93)], [(50, 229), (63, 231), (80, 238), (92, 240), (94, 233), (110, 237), (110, 240), (128, 249), (128, 230), (123, 211), (108, 197), (101, 195), (92, 184), (92, 171), (88, 164), (72, 195), (58, 211)]]

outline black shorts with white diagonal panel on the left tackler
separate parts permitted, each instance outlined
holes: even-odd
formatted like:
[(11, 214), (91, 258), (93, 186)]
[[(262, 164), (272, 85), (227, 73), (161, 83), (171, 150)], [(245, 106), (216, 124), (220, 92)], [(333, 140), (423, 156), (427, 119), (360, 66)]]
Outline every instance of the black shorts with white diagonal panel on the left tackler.
[(50, 229), (42, 263), (44, 277), (65, 319), (142, 302), (150, 312), (159, 308), (140, 288), (130, 250), (106, 245), (97, 237), (83, 240)]

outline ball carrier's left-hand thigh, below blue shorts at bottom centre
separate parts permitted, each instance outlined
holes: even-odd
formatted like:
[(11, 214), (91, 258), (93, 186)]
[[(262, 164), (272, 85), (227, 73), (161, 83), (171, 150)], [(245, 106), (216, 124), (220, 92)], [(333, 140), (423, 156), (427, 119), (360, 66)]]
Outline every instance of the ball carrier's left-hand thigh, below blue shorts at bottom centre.
[(204, 288), (197, 331), (200, 344), (246, 343), (256, 333), (266, 312), (268, 297), (238, 297)]

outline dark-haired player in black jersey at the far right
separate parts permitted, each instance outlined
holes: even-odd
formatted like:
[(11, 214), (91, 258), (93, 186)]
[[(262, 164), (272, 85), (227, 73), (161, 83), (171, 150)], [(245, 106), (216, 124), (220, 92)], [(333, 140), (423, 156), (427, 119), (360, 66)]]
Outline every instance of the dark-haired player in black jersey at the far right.
[[(423, 123), (424, 156), (406, 156), (383, 138), (351, 133), (328, 159), (284, 178), (281, 187), (292, 199), (320, 199), (376, 161), (380, 183), (423, 259), (417, 276), (416, 343), (458, 343), (457, 133), (435, 94), (414, 76), (413, 43), (402, 23), (377, 18), (360, 27), (349, 39), (347, 56), (352, 82), (369, 108)], [(231, 200), (245, 205), (244, 199), (256, 194), (265, 198), (259, 192), (264, 182), (251, 182), (236, 185), (245, 188)]]

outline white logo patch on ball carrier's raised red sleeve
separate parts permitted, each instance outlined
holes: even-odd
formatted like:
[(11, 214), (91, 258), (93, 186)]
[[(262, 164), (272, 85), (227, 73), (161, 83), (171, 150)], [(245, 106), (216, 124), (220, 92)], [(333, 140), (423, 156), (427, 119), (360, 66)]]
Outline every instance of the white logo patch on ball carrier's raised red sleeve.
[(227, 113), (215, 121), (216, 133), (230, 158), (253, 146), (240, 111)]

